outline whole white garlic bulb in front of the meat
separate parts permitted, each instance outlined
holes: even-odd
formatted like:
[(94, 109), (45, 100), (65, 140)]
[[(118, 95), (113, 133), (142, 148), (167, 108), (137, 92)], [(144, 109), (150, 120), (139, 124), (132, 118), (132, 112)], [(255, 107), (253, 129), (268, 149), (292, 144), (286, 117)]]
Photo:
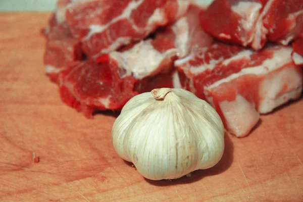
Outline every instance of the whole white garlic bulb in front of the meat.
[(176, 179), (216, 165), (224, 151), (224, 127), (205, 100), (183, 89), (138, 94), (112, 128), (118, 155), (147, 179)]

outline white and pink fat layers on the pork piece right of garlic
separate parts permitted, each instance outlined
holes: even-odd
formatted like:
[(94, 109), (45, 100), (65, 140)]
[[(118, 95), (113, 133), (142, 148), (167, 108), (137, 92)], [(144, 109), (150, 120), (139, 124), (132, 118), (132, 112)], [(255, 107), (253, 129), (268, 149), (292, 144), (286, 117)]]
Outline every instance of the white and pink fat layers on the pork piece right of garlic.
[(209, 92), (216, 91), (219, 85), (222, 88), (225, 83), (228, 84), (245, 75), (262, 77), (262, 81), (258, 83), (259, 89), (256, 95), (259, 98), (258, 106), (248, 102), (240, 94), (236, 95), (235, 100), (219, 102), (229, 131), (236, 136), (247, 135), (257, 123), (259, 113), (269, 113), (290, 99), (298, 98), (301, 93), (302, 75), (291, 61), (292, 48), (276, 46), (272, 47), (272, 51), (273, 58), (264, 60), (261, 65), (244, 68), (204, 88), (208, 102), (213, 102), (213, 97), (209, 95)]

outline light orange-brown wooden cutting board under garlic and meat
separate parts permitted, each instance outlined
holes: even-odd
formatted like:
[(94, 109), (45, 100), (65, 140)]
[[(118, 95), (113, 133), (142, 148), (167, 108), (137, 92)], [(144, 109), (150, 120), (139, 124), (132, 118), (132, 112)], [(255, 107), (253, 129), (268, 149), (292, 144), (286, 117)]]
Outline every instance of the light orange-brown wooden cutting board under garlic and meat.
[(113, 149), (115, 116), (86, 119), (44, 75), (49, 16), (0, 14), (0, 201), (303, 201), (303, 99), (226, 134), (215, 167), (146, 180)]

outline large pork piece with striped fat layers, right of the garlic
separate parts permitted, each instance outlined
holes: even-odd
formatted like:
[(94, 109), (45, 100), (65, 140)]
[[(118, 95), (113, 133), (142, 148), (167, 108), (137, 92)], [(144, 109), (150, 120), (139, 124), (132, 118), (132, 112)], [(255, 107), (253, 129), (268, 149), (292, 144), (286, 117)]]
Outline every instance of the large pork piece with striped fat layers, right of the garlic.
[(205, 98), (237, 137), (247, 135), (273, 109), (299, 97), (302, 70), (291, 59), (292, 48), (268, 45), (252, 51), (215, 43), (177, 60), (188, 81), (185, 88)]

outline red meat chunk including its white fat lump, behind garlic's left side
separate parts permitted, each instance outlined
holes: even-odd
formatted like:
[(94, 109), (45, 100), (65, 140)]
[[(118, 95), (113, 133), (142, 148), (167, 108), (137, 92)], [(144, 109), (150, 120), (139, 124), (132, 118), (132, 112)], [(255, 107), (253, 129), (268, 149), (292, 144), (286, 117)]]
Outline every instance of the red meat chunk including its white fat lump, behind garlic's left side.
[(166, 32), (159, 32), (155, 39), (70, 66), (59, 77), (62, 100), (91, 117), (97, 110), (120, 111), (138, 93), (181, 87), (179, 74), (172, 69), (178, 49), (170, 39)]

